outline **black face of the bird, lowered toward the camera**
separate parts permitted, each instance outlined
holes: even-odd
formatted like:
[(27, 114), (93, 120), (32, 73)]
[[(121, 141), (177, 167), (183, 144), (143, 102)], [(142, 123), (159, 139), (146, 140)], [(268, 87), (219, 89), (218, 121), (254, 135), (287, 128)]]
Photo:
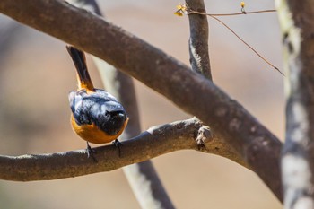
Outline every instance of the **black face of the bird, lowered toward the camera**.
[(109, 135), (117, 135), (121, 128), (125, 126), (126, 119), (125, 111), (108, 111), (105, 115), (98, 117), (96, 125)]

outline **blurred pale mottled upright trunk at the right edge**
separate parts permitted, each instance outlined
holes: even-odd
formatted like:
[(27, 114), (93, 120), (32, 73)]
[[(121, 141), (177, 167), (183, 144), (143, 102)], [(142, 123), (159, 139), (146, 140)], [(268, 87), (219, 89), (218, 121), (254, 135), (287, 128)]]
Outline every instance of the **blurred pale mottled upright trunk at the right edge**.
[(314, 2), (278, 0), (287, 95), (282, 170), (285, 208), (314, 208)]

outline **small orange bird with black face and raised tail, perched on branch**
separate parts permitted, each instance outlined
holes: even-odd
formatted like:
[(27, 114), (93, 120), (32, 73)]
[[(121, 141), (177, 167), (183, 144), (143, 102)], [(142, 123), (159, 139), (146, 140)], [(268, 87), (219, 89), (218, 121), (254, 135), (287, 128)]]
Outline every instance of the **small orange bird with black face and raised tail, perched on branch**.
[(71, 124), (74, 132), (87, 142), (87, 154), (91, 155), (89, 144), (105, 144), (114, 141), (126, 128), (126, 110), (109, 92), (95, 89), (86, 66), (83, 51), (72, 46), (66, 49), (75, 65), (78, 89), (69, 93), (72, 110)]

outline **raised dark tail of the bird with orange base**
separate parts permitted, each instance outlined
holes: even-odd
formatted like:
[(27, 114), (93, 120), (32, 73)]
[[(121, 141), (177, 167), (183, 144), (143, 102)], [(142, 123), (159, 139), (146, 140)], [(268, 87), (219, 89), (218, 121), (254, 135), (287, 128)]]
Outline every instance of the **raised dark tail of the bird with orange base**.
[(72, 46), (66, 46), (66, 49), (72, 57), (76, 68), (78, 90), (86, 89), (88, 91), (94, 91), (94, 86), (87, 70), (86, 58), (83, 51)]

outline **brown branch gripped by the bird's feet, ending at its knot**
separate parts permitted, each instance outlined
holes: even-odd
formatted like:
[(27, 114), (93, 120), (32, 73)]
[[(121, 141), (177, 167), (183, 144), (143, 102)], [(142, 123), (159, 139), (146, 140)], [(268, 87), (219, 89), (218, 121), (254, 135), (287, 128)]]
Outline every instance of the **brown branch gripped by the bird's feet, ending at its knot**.
[[(86, 150), (0, 156), (0, 179), (15, 181), (48, 180), (77, 177), (101, 171), (117, 170), (135, 162), (146, 161), (167, 152), (195, 149), (195, 137), (202, 125), (195, 119), (153, 126), (121, 146), (93, 148), (98, 162), (87, 158)], [(208, 144), (210, 141), (208, 142)]]

